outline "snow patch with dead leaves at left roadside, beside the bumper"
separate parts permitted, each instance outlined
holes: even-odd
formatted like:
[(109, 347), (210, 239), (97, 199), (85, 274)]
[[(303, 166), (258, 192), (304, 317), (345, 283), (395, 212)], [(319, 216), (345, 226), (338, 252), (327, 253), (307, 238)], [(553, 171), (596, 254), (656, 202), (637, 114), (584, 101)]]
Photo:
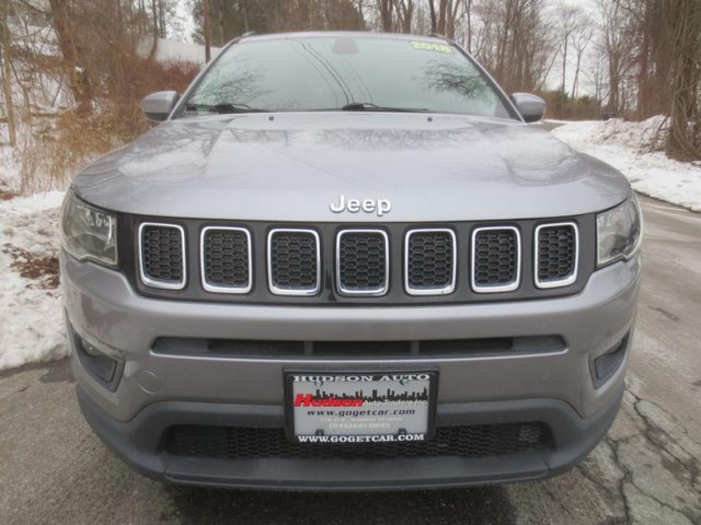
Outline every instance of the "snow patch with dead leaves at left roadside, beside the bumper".
[(68, 355), (60, 288), (41, 288), (10, 265), (6, 245), (57, 256), (62, 192), (0, 201), (0, 370)]

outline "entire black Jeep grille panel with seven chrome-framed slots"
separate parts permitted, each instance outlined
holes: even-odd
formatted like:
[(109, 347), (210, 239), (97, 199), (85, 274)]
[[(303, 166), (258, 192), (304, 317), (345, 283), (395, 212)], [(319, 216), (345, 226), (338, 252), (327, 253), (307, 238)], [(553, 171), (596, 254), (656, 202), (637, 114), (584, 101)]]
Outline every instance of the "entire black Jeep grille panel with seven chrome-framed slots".
[[(126, 214), (120, 221), (121, 271), (135, 278), (139, 293), (174, 300), (316, 305), (530, 300), (578, 293), (595, 269), (594, 214), (501, 225), (365, 228), (132, 220)], [(187, 279), (189, 272), (196, 278)]]

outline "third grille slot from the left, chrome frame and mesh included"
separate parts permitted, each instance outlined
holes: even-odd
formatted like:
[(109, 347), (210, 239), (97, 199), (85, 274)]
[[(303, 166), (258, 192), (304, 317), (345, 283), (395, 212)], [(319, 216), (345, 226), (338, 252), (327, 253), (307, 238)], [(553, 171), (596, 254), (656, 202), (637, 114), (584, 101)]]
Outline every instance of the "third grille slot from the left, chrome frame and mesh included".
[(321, 285), (319, 235), (280, 229), (268, 234), (268, 284), (277, 295), (314, 295)]

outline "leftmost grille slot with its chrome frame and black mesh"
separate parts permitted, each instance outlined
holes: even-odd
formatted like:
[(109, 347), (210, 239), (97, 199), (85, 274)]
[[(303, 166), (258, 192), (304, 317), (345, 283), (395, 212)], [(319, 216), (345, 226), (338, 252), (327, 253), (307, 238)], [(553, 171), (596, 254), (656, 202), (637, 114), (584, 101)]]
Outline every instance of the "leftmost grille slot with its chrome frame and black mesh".
[(139, 228), (141, 279), (149, 286), (185, 287), (185, 232), (181, 226), (142, 223)]

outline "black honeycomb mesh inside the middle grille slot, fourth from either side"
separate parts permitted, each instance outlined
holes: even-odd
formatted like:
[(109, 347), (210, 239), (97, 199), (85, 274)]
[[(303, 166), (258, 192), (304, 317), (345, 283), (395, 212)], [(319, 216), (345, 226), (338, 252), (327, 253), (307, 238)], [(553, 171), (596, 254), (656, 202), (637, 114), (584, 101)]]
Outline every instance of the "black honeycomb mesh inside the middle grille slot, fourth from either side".
[(379, 291), (386, 287), (387, 246), (380, 232), (346, 232), (339, 240), (339, 283), (343, 290)]

